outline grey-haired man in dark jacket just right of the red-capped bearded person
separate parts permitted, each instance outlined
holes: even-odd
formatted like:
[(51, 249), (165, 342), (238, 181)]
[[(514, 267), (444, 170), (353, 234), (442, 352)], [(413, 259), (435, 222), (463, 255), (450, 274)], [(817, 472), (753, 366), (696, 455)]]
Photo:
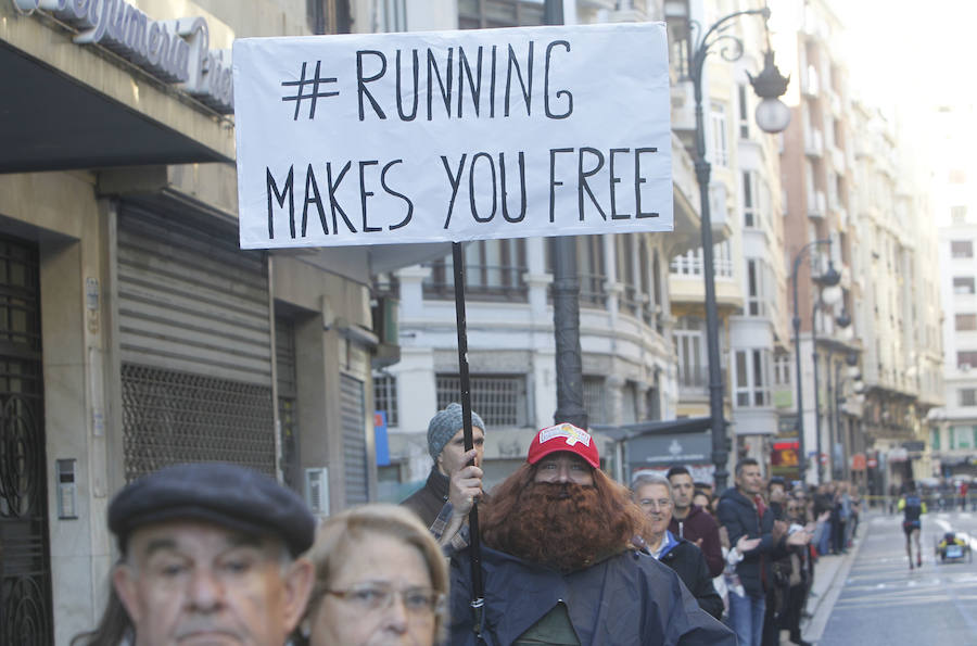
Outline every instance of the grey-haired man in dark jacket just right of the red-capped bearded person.
[(659, 473), (638, 473), (631, 483), (634, 501), (648, 515), (649, 534), (644, 536), (648, 553), (678, 574), (699, 607), (723, 618), (723, 598), (712, 585), (709, 567), (702, 552), (685, 539), (676, 539), (669, 531), (672, 520), (672, 485)]

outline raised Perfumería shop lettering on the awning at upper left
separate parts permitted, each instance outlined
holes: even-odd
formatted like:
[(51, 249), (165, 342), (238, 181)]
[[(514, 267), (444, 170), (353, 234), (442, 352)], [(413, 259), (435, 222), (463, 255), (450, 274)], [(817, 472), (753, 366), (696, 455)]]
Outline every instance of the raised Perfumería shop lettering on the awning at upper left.
[(229, 50), (211, 50), (203, 17), (154, 21), (124, 0), (13, 0), (25, 13), (47, 11), (100, 45), (221, 114), (234, 111)]

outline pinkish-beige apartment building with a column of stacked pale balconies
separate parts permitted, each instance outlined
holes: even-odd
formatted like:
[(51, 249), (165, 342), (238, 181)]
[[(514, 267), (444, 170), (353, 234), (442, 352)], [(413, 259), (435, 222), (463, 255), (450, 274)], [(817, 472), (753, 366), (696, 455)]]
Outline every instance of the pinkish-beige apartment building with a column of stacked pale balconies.
[[(777, 2), (778, 50), (792, 61), (796, 85), (788, 90), (794, 117), (784, 132), (781, 167), (784, 178), (783, 261), (788, 274), (791, 318), (797, 316), (803, 409), (807, 479), (820, 482), (847, 474), (851, 451), (845, 449), (836, 397), (847, 377), (839, 366), (858, 362), (860, 345), (852, 334), (852, 308), (861, 297), (852, 268), (850, 212), (855, 131), (850, 122), (847, 71), (833, 48), (842, 24), (830, 3)], [(790, 68), (790, 67), (788, 67)], [(840, 274), (840, 293), (825, 291), (822, 278)], [(796, 288), (796, 289), (795, 289)], [(795, 302), (796, 299), (796, 302)], [(837, 382), (837, 383), (836, 383)], [(797, 387), (795, 387), (795, 391)], [(791, 397), (794, 401), (796, 397)], [(786, 395), (785, 395), (786, 400)], [(857, 416), (857, 414), (855, 414)], [(785, 423), (782, 441), (795, 440), (795, 423)], [(791, 428), (791, 426), (794, 428)], [(847, 428), (847, 427), (846, 427)], [(858, 461), (860, 470), (865, 466)]]

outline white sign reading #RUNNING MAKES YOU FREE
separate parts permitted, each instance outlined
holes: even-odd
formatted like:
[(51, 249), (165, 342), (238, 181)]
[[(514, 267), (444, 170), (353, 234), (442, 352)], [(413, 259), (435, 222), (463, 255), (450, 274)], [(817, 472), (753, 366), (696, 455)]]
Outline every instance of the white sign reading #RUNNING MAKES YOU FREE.
[(672, 230), (661, 23), (234, 42), (244, 249)]

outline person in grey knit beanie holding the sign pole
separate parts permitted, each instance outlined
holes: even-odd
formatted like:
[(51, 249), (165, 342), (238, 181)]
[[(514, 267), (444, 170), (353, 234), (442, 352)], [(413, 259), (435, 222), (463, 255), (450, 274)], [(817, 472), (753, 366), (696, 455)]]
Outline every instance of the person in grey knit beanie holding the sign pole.
[[(485, 444), (485, 423), (474, 411), (471, 414), (471, 436), (474, 448), (465, 451), (465, 421), (461, 405), (448, 404), (444, 410), (431, 418), (428, 423), (428, 453), (434, 460), (431, 473), (424, 485), (405, 499), (402, 505), (417, 514), (426, 527), (431, 527), (448, 502), (451, 477), (474, 459), (478, 468), (482, 466), (482, 449)], [(481, 478), (481, 471), (478, 472)]]

